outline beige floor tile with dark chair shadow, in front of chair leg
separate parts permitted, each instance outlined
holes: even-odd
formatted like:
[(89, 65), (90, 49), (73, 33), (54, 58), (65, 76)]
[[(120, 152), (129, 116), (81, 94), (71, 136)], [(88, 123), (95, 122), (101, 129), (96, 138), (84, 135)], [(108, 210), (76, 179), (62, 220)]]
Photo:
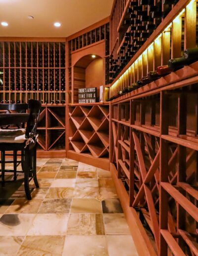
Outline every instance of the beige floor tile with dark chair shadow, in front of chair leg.
[(37, 213), (43, 199), (15, 199), (5, 213)]

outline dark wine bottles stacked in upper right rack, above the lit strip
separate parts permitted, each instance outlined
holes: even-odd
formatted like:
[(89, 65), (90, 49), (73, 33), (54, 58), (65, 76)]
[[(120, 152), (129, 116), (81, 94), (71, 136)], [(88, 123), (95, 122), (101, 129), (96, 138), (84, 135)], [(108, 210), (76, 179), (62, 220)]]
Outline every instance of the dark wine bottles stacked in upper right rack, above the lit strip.
[(118, 52), (109, 57), (110, 82), (128, 64), (177, 2), (178, 0), (135, 0), (130, 2), (119, 30)]

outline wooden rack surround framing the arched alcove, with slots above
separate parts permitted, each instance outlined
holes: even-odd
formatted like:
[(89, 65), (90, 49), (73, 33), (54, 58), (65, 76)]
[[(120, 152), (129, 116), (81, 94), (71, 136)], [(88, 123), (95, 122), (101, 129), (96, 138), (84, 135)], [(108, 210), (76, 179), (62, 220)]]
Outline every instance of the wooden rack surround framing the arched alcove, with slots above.
[[(104, 43), (104, 50), (98, 50), (100, 44)], [(104, 82), (100, 85), (109, 86), (109, 18), (90, 26), (68, 38), (68, 92), (69, 103), (78, 103), (78, 88), (85, 87), (85, 65), (90, 60), (84, 60), (80, 66), (72, 66), (72, 55), (79, 53), (87, 54), (88, 48), (93, 49), (92, 54), (100, 53), (104, 56)], [(97, 50), (96, 50), (97, 49)], [(90, 57), (91, 58), (91, 57)], [(75, 70), (72, 71), (72, 68)], [(73, 81), (72, 81), (73, 80)], [(75, 80), (75, 82), (74, 82)], [(73, 83), (73, 85), (72, 85)], [(93, 87), (95, 84), (93, 84)]]

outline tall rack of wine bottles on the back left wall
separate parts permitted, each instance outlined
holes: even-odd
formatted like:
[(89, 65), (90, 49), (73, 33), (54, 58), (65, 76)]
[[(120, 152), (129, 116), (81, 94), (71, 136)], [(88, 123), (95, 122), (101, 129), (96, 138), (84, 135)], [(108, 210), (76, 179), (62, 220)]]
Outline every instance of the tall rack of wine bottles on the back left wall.
[(63, 104), (65, 66), (64, 42), (0, 42), (0, 71), (3, 72), (0, 91), (4, 92), (0, 102), (25, 102), (27, 97), (23, 94), (28, 93), (28, 97), (49, 104), (50, 100), (45, 98), (50, 92), (54, 94), (51, 102)]

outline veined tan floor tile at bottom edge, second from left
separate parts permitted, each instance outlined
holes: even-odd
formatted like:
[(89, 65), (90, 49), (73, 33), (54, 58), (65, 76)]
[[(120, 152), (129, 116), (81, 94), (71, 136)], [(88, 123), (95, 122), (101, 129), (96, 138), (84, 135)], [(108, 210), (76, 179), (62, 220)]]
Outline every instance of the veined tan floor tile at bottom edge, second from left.
[(17, 256), (61, 256), (65, 236), (27, 236)]

